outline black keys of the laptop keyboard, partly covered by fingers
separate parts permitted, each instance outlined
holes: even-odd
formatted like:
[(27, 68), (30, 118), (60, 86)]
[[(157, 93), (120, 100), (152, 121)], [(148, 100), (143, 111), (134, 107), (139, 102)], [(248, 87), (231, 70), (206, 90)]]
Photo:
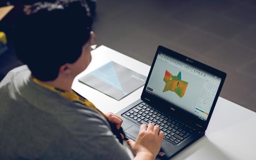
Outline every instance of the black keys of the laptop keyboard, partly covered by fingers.
[(132, 121), (138, 121), (141, 124), (148, 125), (148, 123), (153, 123), (158, 125), (160, 130), (164, 132), (164, 139), (174, 145), (180, 144), (195, 131), (195, 129), (181, 121), (165, 115), (144, 102), (125, 112), (122, 116)]

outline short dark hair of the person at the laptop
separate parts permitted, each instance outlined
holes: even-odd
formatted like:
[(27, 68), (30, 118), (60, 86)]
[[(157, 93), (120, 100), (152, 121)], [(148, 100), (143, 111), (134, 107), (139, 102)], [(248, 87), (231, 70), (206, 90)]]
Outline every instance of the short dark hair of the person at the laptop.
[(60, 66), (80, 57), (92, 23), (85, 0), (35, 3), (25, 8), (15, 25), (17, 57), (35, 78), (54, 80)]

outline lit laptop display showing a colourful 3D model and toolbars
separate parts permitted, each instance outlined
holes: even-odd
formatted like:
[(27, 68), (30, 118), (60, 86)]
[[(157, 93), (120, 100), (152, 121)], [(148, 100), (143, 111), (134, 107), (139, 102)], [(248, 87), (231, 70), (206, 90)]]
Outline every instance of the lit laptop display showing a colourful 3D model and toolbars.
[(146, 92), (206, 121), (221, 80), (159, 52)]

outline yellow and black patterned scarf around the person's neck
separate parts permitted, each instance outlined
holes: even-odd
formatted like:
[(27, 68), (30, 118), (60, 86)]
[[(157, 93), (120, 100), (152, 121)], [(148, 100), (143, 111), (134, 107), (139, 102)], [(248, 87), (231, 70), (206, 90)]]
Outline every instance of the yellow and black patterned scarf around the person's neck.
[(79, 95), (77, 95), (73, 90), (70, 91), (70, 92), (67, 92), (67, 91), (63, 91), (59, 88), (56, 88), (54, 86), (51, 86), (49, 84), (46, 84), (44, 82), (41, 82), (39, 81), (38, 79), (34, 78), (33, 76), (32, 77), (32, 80), (39, 84), (40, 86), (43, 86), (45, 88), (48, 88), (49, 90), (53, 91), (53, 92), (56, 92), (56, 93), (59, 93), (61, 96), (65, 97), (66, 99), (68, 99), (69, 101), (72, 101), (72, 102), (79, 102), (91, 109), (94, 109), (95, 111), (97, 111), (98, 113), (100, 113), (102, 116), (104, 116), (106, 119), (108, 119), (108, 117), (103, 113), (101, 112), (100, 110), (98, 110), (98, 108), (96, 108), (94, 106), (94, 104), (90, 101), (88, 101), (87, 99), (83, 98), (83, 97), (80, 97)]

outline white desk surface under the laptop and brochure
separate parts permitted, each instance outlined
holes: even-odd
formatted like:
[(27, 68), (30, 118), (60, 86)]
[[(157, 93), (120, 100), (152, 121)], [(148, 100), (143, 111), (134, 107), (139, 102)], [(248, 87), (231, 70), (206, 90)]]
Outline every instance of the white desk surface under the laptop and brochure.
[[(140, 98), (143, 87), (117, 101), (77, 79), (111, 60), (145, 76), (150, 66), (105, 46), (92, 51), (92, 58), (89, 67), (74, 80), (72, 88), (76, 92), (102, 112), (116, 113)], [(206, 135), (172, 160), (256, 160), (256, 113), (219, 97)]]

